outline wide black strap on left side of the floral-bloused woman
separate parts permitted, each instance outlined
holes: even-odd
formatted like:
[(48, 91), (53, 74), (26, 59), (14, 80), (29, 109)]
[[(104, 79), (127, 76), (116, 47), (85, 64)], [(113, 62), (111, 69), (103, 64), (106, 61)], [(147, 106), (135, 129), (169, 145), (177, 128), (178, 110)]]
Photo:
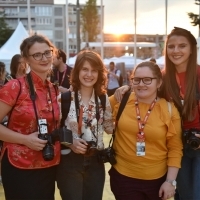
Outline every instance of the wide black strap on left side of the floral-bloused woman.
[(61, 94), (61, 113), (62, 119), (60, 121), (60, 127), (65, 125), (65, 120), (67, 119), (69, 109), (71, 105), (71, 91), (67, 91)]

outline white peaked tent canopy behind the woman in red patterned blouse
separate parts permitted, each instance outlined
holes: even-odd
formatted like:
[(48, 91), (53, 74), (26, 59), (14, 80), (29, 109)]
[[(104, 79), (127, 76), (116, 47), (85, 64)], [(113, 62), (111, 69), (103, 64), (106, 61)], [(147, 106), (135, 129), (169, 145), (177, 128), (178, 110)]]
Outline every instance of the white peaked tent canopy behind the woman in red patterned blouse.
[(15, 54), (20, 54), (20, 44), (29, 35), (21, 22), (18, 23), (14, 33), (0, 49), (0, 61), (6, 64), (9, 71), (9, 64)]

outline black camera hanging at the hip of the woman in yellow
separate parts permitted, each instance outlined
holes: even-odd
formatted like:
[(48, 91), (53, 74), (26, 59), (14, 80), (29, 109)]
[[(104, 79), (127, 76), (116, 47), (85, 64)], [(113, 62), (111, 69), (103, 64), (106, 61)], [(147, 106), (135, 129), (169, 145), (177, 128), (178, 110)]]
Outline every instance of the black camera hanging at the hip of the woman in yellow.
[(111, 165), (117, 163), (115, 159), (115, 151), (112, 147), (105, 148), (99, 152), (99, 161), (101, 163), (109, 162)]

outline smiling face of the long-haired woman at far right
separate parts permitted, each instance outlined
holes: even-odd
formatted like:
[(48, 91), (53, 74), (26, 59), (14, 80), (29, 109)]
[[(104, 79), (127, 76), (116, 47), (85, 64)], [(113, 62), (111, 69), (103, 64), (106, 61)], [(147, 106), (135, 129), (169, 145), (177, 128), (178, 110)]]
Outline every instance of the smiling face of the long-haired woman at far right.
[(191, 45), (186, 37), (173, 35), (167, 42), (167, 56), (175, 65), (177, 71), (186, 71)]

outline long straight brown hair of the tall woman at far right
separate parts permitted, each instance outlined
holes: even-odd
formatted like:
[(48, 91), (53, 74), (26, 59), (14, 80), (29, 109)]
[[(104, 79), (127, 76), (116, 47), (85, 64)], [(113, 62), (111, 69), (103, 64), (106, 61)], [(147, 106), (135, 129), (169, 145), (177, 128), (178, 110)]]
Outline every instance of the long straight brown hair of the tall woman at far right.
[[(191, 54), (189, 57), (186, 69), (186, 92), (184, 95), (184, 105), (181, 104), (180, 89), (176, 81), (176, 68), (174, 63), (167, 55), (168, 40), (172, 36), (185, 37), (191, 47)], [(172, 99), (181, 113), (183, 119), (192, 121), (194, 119), (194, 108), (196, 106), (196, 81), (197, 81), (197, 42), (195, 37), (186, 29), (174, 28), (167, 36), (165, 44), (165, 70), (163, 73), (164, 79), (164, 95), (168, 99)]]

